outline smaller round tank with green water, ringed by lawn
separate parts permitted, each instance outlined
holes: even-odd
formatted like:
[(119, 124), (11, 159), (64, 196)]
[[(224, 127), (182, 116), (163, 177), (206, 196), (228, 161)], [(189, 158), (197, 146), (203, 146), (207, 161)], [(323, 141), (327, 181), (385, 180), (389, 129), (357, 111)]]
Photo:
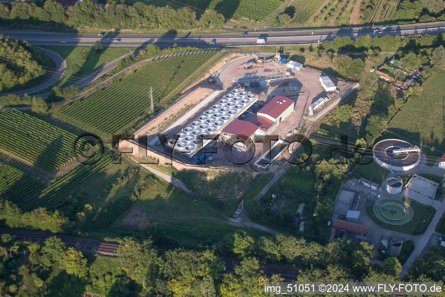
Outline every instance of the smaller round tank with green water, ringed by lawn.
[(413, 219), (413, 208), (397, 199), (382, 199), (374, 204), (374, 215), (381, 221), (392, 225), (403, 225)]

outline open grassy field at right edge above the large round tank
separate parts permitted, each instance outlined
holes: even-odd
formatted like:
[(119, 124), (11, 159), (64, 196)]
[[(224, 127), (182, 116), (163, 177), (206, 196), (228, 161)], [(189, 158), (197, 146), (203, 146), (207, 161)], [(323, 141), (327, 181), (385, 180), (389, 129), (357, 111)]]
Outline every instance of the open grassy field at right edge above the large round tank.
[[(402, 110), (389, 122), (388, 130), (414, 144), (423, 143), (445, 151), (445, 71), (433, 74), (423, 83), (423, 94), (412, 96)], [(441, 112), (437, 112), (441, 110)]]

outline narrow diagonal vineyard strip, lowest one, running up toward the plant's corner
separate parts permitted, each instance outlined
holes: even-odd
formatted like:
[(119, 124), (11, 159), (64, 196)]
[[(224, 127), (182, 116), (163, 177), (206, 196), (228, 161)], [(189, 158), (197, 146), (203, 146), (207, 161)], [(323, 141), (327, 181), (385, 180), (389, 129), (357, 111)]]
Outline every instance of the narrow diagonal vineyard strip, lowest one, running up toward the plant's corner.
[[(97, 155), (100, 158), (101, 155)], [(93, 177), (97, 177), (100, 172), (105, 172), (116, 158), (107, 153), (92, 165), (79, 164), (73, 170), (53, 181), (50, 187), (44, 189), (40, 195), (36, 195), (31, 199), (16, 201), (17, 206), (24, 210), (32, 210), (37, 207), (52, 207), (59, 203), (67, 195), (79, 189), (83, 184), (87, 183)], [(25, 203), (26, 202), (26, 203)]]

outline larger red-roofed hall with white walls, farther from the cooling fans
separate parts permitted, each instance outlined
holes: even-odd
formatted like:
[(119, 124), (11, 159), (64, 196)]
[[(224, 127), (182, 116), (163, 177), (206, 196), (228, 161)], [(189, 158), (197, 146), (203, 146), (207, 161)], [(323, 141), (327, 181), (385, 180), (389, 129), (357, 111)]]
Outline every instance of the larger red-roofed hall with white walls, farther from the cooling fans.
[(249, 121), (258, 126), (256, 136), (263, 138), (275, 130), (281, 121), (284, 121), (295, 108), (295, 102), (284, 96), (275, 96), (256, 114), (247, 117)]

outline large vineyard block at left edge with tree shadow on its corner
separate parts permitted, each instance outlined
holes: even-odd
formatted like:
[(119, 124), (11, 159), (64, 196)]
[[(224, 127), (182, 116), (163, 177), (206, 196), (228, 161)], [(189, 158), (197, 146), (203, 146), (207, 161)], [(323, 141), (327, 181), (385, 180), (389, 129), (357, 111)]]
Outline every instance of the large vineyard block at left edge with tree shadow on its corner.
[(0, 150), (44, 171), (74, 157), (77, 137), (18, 110), (0, 110)]

